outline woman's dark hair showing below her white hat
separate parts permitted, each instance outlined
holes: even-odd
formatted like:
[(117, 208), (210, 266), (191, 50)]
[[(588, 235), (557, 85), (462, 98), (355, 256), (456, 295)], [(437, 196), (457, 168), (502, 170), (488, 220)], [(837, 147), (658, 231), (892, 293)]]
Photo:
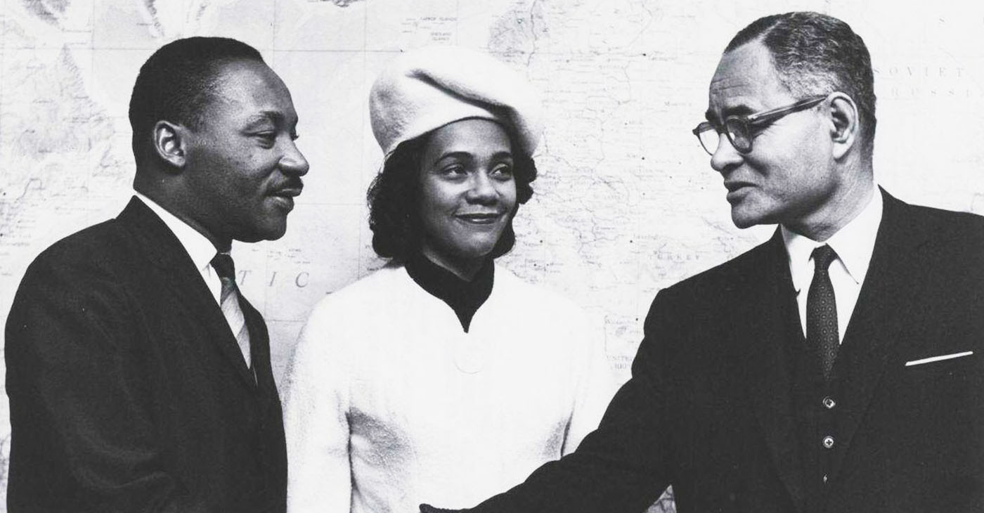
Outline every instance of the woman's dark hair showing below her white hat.
[[(529, 184), (536, 179), (536, 164), (531, 157), (516, 151), (520, 145), (512, 131), (507, 132), (514, 149), (513, 177), (516, 180), (517, 204), (512, 215), (515, 218), (520, 204), (529, 201), (533, 195)], [(423, 230), (417, 204), (420, 199), (420, 159), (432, 133), (400, 143), (383, 164), (383, 171), (369, 186), (366, 198), (369, 202), (369, 228), (373, 232), (372, 248), (381, 257), (404, 262), (420, 249)], [(515, 243), (516, 232), (513, 231), (511, 219), (492, 248), (492, 258), (508, 253)]]

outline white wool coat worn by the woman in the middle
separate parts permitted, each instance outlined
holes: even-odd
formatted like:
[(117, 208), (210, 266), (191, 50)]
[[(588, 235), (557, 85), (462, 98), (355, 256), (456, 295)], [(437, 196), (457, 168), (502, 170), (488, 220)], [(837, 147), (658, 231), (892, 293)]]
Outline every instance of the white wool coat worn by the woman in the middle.
[(500, 265), (461, 330), (388, 266), (325, 297), (284, 392), (290, 513), (466, 507), (577, 448), (615, 390), (604, 334)]

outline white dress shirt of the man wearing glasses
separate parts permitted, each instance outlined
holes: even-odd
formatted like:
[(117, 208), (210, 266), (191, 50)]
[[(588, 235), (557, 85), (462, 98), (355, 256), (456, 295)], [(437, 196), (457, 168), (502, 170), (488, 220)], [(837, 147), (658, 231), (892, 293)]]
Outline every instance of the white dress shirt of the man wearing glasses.
[(813, 250), (824, 244), (837, 254), (830, 262), (830, 284), (833, 286), (834, 300), (837, 302), (837, 336), (844, 341), (844, 332), (858, 301), (861, 285), (868, 274), (871, 254), (875, 250), (875, 237), (882, 223), (882, 194), (874, 187), (871, 200), (864, 210), (849, 223), (844, 224), (824, 242), (817, 242), (799, 233), (781, 227), (782, 241), (789, 255), (789, 273), (796, 290), (796, 303), (799, 306), (800, 326), (806, 336), (806, 296), (813, 282)]

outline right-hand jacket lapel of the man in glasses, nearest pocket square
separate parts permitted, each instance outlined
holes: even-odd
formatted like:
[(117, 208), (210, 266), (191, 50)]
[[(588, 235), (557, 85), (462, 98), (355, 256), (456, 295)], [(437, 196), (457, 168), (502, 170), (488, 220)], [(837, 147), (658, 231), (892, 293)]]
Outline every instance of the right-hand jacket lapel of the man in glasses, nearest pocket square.
[(885, 373), (895, 341), (911, 329), (905, 320), (915, 318), (918, 301), (912, 298), (925, 275), (920, 269), (929, 265), (918, 258), (918, 246), (926, 234), (907, 215), (905, 204), (882, 192), (885, 209), (871, 264), (834, 363), (844, 410), (837, 429), (842, 446), (834, 454), (831, 481), (842, 471), (844, 456)]

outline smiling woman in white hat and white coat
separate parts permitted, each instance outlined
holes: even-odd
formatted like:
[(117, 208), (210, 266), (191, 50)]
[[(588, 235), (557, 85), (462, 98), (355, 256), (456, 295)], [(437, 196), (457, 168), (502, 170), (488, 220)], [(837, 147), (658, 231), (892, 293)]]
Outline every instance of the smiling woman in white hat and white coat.
[(288, 371), (288, 510), (469, 506), (577, 448), (614, 390), (598, 326), (494, 259), (532, 196), (529, 85), (461, 48), (398, 58), (370, 96), (390, 265), (315, 308)]

